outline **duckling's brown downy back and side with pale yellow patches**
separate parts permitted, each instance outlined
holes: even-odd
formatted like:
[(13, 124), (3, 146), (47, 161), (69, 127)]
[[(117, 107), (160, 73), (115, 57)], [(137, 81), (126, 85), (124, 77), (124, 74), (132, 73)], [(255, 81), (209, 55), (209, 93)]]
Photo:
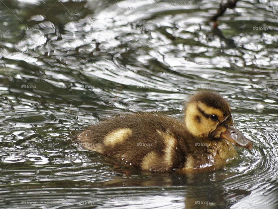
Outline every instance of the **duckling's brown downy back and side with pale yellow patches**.
[(194, 143), (182, 122), (152, 113), (106, 120), (83, 131), (78, 140), (86, 149), (153, 171), (183, 166)]

